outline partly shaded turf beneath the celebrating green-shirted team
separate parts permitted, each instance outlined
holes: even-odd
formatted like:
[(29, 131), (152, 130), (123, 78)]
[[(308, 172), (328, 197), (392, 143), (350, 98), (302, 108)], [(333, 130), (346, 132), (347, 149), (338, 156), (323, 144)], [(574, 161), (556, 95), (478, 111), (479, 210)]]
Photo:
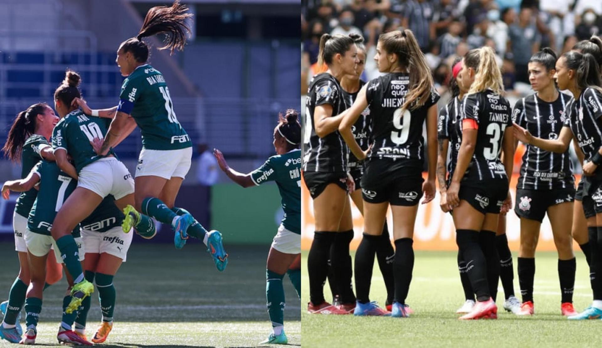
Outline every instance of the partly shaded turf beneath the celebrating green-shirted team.
[[(135, 243), (114, 284), (115, 327), (107, 343), (117, 346), (256, 346), (272, 326), (265, 309), (267, 246), (228, 246), (228, 268), (220, 273), (200, 243), (182, 250), (170, 244)], [(13, 243), (0, 243), (0, 299), (8, 296), (19, 270)], [(285, 332), (300, 343), (300, 303), (285, 277)], [(64, 278), (44, 293), (39, 343), (56, 343)], [(98, 296), (92, 295), (88, 338), (99, 320)], [(107, 343), (104, 345), (106, 346)], [(1, 340), (0, 346), (7, 344)]]

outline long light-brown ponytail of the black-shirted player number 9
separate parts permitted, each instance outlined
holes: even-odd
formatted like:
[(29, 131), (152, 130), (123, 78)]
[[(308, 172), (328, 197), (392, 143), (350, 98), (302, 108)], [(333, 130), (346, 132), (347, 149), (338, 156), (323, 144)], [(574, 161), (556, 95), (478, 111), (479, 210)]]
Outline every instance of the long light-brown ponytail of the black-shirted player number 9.
[(410, 74), (410, 90), (401, 108), (409, 107), (410, 110), (414, 110), (424, 105), (430, 98), (433, 76), (412, 31), (390, 31), (380, 34), (378, 40), (387, 53), (397, 55), (399, 66), (404, 67)]

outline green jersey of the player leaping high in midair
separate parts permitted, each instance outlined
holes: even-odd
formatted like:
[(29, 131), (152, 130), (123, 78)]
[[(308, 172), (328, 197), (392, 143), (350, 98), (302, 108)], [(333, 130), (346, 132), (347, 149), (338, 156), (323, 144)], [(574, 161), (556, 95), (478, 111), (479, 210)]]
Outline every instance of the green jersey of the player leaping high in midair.
[(130, 114), (140, 127), (142, 146), (149, 150), (190, 148), (190, 137), (173, 111), (163, 74), (145, 64), (123, 81), (117, 111)]

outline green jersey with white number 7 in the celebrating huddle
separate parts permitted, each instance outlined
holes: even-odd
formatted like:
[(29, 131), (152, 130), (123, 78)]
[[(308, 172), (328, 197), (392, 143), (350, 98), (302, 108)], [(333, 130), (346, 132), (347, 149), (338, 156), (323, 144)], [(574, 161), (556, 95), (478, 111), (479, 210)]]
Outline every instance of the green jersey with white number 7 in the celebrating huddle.
[[(77, 181), (67, 173), (61, 172), (55, 162), (40, 161), (34, 170), (40, 177), (40, 191), (29, 213), (27, 229), (51, 235), (52, 222), (63, 202), (77, 187)], [(74, 237), (79, 236), (79, 225), (73, 229), (72, 234)]]

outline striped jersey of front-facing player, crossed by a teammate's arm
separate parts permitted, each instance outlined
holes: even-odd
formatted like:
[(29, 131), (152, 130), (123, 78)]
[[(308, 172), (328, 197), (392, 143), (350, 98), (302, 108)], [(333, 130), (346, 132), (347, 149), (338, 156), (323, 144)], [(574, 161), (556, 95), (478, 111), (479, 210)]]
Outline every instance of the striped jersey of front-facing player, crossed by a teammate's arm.
[[(550, 103), (542, 101), (534, 93), (517, 101), (512, 111), (512, 120), (535, 137), (557, 139), (565, 120), (566, 104), (570, 99), (564, 93), (559, 93), (556, 101)], [(568, 149), (563, 154), (554, 154), (527, 144), (517, 188), (551, 190), (574, 185), (573, 165)]]

